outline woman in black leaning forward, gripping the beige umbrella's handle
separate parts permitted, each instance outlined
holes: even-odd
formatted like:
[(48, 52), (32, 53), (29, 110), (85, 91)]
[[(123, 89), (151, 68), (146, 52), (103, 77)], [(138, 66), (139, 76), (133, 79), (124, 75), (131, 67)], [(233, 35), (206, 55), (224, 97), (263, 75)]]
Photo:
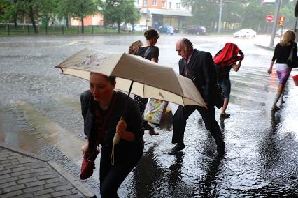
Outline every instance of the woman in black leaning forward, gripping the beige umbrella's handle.
[[(118, 197), (118, 188), (143, 155), (141, 114), (134, 100), (125, 93), (114, 91), (115, 84), (115, 77), (91, 73), (90, 90), (80, 96), (87, 135), (83, 153), (92, 155), (101, 144), (101, 197)], [(120, 141), (113, 148), (115, 133), (120, 136)]]

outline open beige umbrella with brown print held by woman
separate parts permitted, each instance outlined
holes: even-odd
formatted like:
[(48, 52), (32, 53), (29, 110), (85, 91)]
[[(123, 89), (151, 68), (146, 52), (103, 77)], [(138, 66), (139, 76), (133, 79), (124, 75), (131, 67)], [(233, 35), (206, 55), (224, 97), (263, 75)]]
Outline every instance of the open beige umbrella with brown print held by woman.
[[(90, 72), (116, 77), (115, 89), (134, 93), (142, 98), (155, 98), (178, 105), (206, 107), (191, 79), (176, 73), (173, 68), (131, 54), (112, 54), (84, 49), (59, 63), (62, 74), (89, 80)], [(132, 87), (131, 87), (132, 86)]]

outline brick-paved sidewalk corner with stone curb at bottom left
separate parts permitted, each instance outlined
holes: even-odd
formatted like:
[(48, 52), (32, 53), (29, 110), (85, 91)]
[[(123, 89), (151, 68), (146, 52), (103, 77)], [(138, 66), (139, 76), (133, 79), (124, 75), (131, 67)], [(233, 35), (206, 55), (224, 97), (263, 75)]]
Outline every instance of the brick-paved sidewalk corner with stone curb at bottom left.
[(94, 197), (57, 162), (0, 142), (0, 197)]

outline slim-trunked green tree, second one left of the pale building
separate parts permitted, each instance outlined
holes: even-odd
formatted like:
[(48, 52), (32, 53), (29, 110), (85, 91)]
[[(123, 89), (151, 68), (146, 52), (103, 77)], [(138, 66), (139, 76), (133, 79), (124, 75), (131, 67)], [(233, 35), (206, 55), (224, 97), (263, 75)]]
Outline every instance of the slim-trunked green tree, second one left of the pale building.
[(87, 15), (94, 15), (99, 11), (99, 3), (97, 0), (72, 0), (69, 6), (69, 13), (77, 20), (81, 21), (82, 33), (84, 33), (84, 18)]

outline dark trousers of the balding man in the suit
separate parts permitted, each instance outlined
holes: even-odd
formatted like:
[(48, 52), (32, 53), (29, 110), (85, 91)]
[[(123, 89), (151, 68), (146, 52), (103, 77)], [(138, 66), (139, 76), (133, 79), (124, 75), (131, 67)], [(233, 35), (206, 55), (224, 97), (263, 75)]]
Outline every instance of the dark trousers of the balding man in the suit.
[(185, 107), (179, 105), (177, 111), (173, 116), (173, 137), (172, 143), (183, 144), (184, 131), (186, 126), (186, 121), (188, 117), (197, 110), (205, 123), (206, 129), (211, 132), (211, 135), (215, 139), (218, 147), (222, 148), (225, 146), (225, 142), (222, 140), (222, 135), (220, 131), (220, 126), (215, 120), (215, 109), (213, 105), (208, 105), (208, 109), (204, 107), (199, 107), (195, 105), (187, 105)]

